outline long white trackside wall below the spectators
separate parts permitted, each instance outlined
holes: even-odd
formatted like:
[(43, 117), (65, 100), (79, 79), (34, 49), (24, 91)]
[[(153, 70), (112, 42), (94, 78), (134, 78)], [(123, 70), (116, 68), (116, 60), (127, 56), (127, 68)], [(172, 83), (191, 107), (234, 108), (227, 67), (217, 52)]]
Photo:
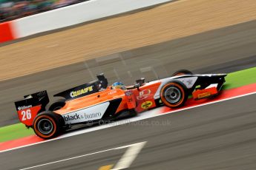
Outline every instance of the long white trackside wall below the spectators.
[(17, 38), (172, 0), (91, 0), (13, 21)]

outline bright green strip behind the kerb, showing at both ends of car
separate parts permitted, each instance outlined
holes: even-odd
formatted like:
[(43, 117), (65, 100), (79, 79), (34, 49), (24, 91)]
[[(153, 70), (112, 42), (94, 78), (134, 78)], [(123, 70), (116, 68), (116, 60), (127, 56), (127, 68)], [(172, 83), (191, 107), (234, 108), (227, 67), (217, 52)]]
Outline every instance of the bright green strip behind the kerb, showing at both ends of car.
[[(230, 73), (226, 76), (226, 83), (224, 84), (223, 89), (233, 89), (254, 83), (256, 83), (256, 67)], [(34, 135), (33, 129), (25, 128), (22, 123), (4, 126), (0, 128), (0, 143), (30, 135)]]

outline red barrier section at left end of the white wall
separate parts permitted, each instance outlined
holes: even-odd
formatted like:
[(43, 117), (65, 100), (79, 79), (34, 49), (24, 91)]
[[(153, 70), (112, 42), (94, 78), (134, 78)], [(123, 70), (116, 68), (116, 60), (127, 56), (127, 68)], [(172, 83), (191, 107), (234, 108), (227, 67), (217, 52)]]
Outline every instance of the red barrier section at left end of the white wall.
[(0, 43), (15, 39), (11, 21), (0, 24)]

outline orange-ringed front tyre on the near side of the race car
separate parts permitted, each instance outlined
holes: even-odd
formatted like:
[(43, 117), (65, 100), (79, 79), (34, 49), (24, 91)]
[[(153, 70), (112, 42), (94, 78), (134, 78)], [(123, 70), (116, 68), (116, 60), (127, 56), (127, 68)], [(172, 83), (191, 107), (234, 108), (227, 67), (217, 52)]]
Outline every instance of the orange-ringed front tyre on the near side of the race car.
[(162, 87), (160, 95), (165, 106), (176, 108), (187, 101), (188, 89), (180, 81), (170, 81)]

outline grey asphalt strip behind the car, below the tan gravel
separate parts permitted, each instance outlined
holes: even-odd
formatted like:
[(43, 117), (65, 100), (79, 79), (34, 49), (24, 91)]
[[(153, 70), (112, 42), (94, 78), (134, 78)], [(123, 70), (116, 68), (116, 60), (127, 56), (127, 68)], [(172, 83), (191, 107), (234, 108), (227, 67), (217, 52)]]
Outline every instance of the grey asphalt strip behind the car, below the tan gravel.
[[(19, 43), (19, 42), (18, 42)], [(0, 126), (19, 122), (13, 101), (47, 89), (50, 96), (95, 79), (105, 72), (109, 83), (132, 84), (170, 76), (177, 69), (196, 73), (233, 72), (256, 66), (256, 21), (191, 35), (149, 47), (120, 52), (68, 67), (0, 83)], [(52, 98), (50, 98), (52, 99)]]

